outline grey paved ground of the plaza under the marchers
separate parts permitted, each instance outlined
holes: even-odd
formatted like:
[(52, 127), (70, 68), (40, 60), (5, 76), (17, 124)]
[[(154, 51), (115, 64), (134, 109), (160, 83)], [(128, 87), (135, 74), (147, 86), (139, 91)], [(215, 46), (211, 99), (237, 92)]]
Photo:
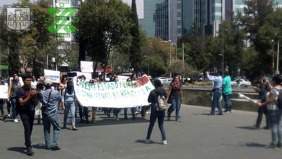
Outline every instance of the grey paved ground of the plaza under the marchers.
[[(181, 122), (165, 121), (168, 145), (161, 144), (157, 125), (151, 138), (153, 143), (146, 144), (142, 138), (146, 136), (148, 121), (141, 118), (114, 121), (99, 112), (96, 124), (77, 124), (76, 132), (62, 130), (62, 149), (49, 151), (44, 149), (42, 125), (34, 125), (31, 137), (34, 156), (23, 152), (22, 123), (6, 119), (0, 121), (0, 158), (281, 158), (282, 149), (265, 148), (270, 143), (270, 130), (250, 129), (255, 122), (255, 112), (235, 110), (223, 116), (210, 116), (209, 108), (183, 105), (180, 114)], [(62, 121), (62, 114), (60, 118)]]

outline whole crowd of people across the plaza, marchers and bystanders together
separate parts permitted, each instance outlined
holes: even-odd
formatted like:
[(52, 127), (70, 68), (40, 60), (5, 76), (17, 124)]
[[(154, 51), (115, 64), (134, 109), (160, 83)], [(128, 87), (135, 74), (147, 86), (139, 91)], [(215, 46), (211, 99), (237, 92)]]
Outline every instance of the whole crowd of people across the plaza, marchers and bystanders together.
[[(229, 113), (233, 112), (231, 103), (231, 78), (228, 72), (225, 72), (224, 77), (222, 73), (218, 71), (216, 76), (209, 75), (209, 72), (205, 73), (205, 76), (210, 81), (214, 82), (213, 88), (213, 101), (211, 102), (211, 115), (214, 115), (218, 108), (218, 115), (223, 115), (223, 112)], [(44, 79), (40, 77), (36, 80), (36, 77), (30, 75), (22, 75), (23, 84), (19, 82), (19, 76), (14, 74), (10, 84), (8, 84), (8, 98), (0, 99), (0, 113), (2, 120), (7, 117), (12, 118), (12, 120), (17, 123), (19, 120), (22, 121), (25, 134), (25, 146), (27, 148), (27, 155), (31, 156), (34, 151), (31, 148), (31, 132), (34, 125), (34, 120), (37, 117), (38, 124), (43, 121), (44, 127), (44, 140), (46, 149), (60, 150), (58, 145), (60, 129), (67, 129), (68, 125), (68, 113), (71, 112), (71, 129), (73, 131), (78, 130), (76, 126), (77, 120), (80, 119), (81, 123), (90, 123), (90, 117), (92, 118), (92, 123), (97, 123), (96, 114), (97, 111), (101, 110), (107, 117), (111, 117), (113, 112), (114, 120), (120, 121), (120, 108), (96, 108), (92, 107), (92, 111), (88, 110), (88, 106), (82, 106), (77, 100), (75, 95), (74, 84), (78, 82), (73, 81), (73, 79), (67, 79), (61, 75), (60, 84), (54, 84), (50, 82), (50, 79)], [(142, 106), (130, 108), (132, 120), (135, 121), (136, 116), (140, 113), (142, 119), (145, 119), (146, 114), (150, 115), (149, 129), (147, 136), (144, 139), (145, 143), (150, 143), (151, 133), (155, 121), (159, 123), (159, 130), (162, 134), (162, 144), (166, 145), (166, 134), (164, 132), (164, 117), (167, 113), (168, 121), (171, 119), (172, 112), (175, 111), (175, 121), (180, 121), (180, 108), (181, 101), (183, 101), (182, 84), (180, 82), (180, 76), (175, 75), (172, 82), (168, 86), (168, 93), (164, 92), (162, 88), (162, 83), (156, 79), (155, 82), (151, 76), (148, 76), (155, 89), (151, 91), (148, 101), (149, 106)], [(86, 81), (86, 77), (81, 75), (77, 79), (84, 80), (90, 84), (96, 84), (98, 82), (107, 82), (104, 75), (99, 75), (99, 79), (92, 78), (90, 81)], [(138, 77), (136, 73), (133, 73), (131, 77), (128, 77), (127, 82), (137, 82)], [(254, 125), (255, 128), (259, 128), (261, 123), (262, 114), (266, 114), (266, 129), (272, 131), (272, 142), (269, 145), (270, 148), (281, 147), (281, 111), (277, 108), (277, 100), (282, 79), (280, 76), (276, 75), (272, 78), (272, 82), (261, 76), (260, 83), (253, 88), (259, 93), (260, 101), (257, 103), (258, 107), (258, 117), (257, 123)], [(110, 82), (118, 81), (118, 75), (112, 75), (110, 77)], [(5, 85), (3, 79), (0, 82), (1, 85)], [(165, 96), (170, 107), (167, 112), (158, 112), (155, 110), (155, 103), (157, 102), (157, 95), (159, 92), (154, 92), (155, 90), (160, 91), (162, 95)], [(223, 97), (225, 101), (225, 111), (222, 111), (220, 97)], [(4, 114), (4, 105), (7, 106), (8, 114)], [(12, 114), (11, 114), (12, 108)], [(63, 125), (60, 127), (60, 121), (58, 117), (58, 111), (62, 109), (64, 112)], [(79, 111), (79, 119), (77, 119), (77, 110)], [(89, 112), (92, 112), (90, 115)], [(129, 120), (127, 114), (127, 108), (123, 108), (124, 120)], [(21, 119), (19, 119), (20, 117)], [(53, 125), (53, 143), (50, 139), (50, 127)]]

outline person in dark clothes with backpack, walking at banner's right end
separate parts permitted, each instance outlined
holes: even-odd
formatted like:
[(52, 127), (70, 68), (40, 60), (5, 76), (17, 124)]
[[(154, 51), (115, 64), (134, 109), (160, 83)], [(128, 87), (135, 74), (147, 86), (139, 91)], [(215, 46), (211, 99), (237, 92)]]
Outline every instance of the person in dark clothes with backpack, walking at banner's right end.
[(159, 124), (159, 130), (162, 134), (162, 144), (166, 145), (166, 132), (164, 132), (164, 117), (165, 117), (165, 110), (157, 110), (156, 104), (158, 103), (158, 97), (164, 96), (166, 99), (166, 90), (162, 87), (162, 82), (159, 79), (155, 79), (154, 81), (155, 89), (151, 90), (151, 93), (148, 97), (148, 102), (151, 103), (151, 115), (150, 115), (150, 124), (147, 132), (146, 138), (144, 138), (145, 143), (150, 143), (151, 134), (153, 131), (153, 127), (155, 125), (155, 121)]

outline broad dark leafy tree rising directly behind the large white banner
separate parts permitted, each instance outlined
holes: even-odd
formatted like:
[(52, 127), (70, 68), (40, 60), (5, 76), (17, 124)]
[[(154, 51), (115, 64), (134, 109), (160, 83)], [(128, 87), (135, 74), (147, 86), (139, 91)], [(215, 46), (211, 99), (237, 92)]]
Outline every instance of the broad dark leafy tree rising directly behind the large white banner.
[[(128, 42), (131, 28), (131, 11), (127, 4), (120, 0), (84, 1), (77, 12), (77, 42), (83, 42), (87, 55), (105, 68), (113, 48)], [(122, 47), (121, 47), (122, 46)]]

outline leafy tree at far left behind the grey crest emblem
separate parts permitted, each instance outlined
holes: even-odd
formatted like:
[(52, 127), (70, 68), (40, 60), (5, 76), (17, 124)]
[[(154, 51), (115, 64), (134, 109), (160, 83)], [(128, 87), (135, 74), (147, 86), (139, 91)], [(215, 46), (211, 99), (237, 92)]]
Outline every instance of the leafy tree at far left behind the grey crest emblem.
[[(44, 21), (46, 17), (49, 17), (47, 12), (49, 5), (44, 0), (37, 1), (36, 4), (23, 0), (16, 5), (28, 6), (34, 13), (34, 23), (31, 29), (21, 33), (10, 32), (4, 23), (0, 23), (0, 43), (10, 50), (8, 58), (10, 75), (18, 73), (22, 64), (25, 69), (33, 67), (34, 75), (38, 77), (42, 75), (44, 61), (46, 61), (47, 51), (45, 50), (52, 49), (55, 53), (56, 49), (56, 45), (49, 43), (55, 36), (50, 36), (48, 24)], [(2, 22), (4, 19), (5, 17), (1, 17)]]

